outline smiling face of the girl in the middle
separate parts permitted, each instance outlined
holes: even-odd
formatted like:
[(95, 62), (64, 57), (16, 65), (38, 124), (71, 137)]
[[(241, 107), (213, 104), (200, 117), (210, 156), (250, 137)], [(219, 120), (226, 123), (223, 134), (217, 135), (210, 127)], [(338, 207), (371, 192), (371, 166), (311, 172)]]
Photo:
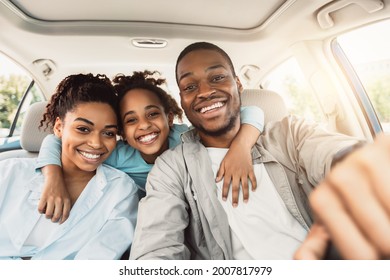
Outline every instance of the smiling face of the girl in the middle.
[(147, 89), (129, 90), (120, 102), (123, 136), (140, 151), (147, 163), (169, 148), (168, 135), (173, 114), (166, 113), (160, 99)]

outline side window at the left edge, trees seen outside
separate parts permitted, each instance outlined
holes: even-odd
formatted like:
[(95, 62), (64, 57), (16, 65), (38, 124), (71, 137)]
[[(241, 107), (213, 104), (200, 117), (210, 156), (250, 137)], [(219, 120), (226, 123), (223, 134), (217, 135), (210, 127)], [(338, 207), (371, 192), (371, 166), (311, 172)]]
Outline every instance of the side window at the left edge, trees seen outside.
[(25, 112), (43, 100), (45, 96), (27, 72), (0, 53), (0, 152), (20, 147)]

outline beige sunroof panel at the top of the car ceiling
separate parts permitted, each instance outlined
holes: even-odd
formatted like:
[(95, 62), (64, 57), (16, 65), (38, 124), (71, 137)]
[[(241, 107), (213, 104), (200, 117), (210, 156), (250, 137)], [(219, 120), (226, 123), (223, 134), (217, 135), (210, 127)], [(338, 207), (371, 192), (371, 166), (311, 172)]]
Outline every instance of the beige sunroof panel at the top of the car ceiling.
[[(26, 15), (44, 21), (127, 21), (252, 29), (283, 0), (12, 0)], [(237, 16), (233, 16), (240, 11)], [(245, 16), (243, 16), (245, 15)]]

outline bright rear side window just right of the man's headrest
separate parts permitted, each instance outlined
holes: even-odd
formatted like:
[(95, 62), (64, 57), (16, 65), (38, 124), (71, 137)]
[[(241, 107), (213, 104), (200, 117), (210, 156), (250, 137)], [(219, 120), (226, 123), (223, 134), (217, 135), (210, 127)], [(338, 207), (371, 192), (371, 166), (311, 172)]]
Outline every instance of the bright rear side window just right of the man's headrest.
[(265, 77), (261, 86), (282, 95), (290, 114), (302, 116), (313, 122), (322, 122), (318, 102), (295, 58), (280, 64)]

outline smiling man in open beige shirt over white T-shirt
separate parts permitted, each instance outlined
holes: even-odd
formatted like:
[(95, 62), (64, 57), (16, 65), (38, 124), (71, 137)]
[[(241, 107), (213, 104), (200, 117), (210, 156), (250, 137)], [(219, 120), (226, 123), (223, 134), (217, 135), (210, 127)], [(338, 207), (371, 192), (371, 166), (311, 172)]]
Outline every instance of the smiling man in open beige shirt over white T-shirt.
[(219, 47), (194, 43), (179, 55), (176, 79), (195, 129), (150, 172), (130, 258), (292, 258), (313, 222), (309, 193), (338, 153), (359, 141), (294, 117), (266, 125), (252, 150), (260, 187), (233, 208), (214, 179), (240, 128), (242, 86), (233, 64)]

